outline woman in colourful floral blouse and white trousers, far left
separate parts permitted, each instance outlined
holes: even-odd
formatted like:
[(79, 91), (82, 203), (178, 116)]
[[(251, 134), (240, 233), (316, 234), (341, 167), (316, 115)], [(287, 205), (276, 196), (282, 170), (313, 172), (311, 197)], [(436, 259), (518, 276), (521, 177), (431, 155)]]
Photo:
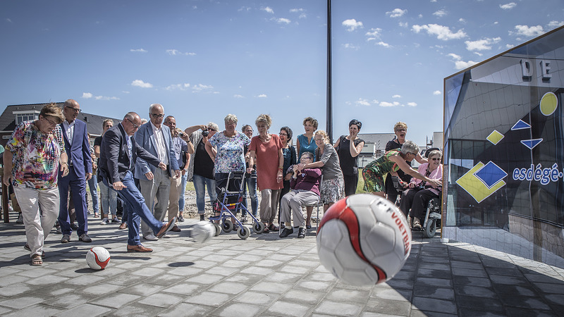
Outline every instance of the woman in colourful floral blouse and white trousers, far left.
[(59, 125), (63, 120), (59, 106), (44, 106), (37, 120), (16, 127), (4, 151), (3, 182), (6, 186), (11, 182), (20, 203), (27, 239), (24, 248), (30, 251), (32, 266), (43, 264), (43, 241), (59, 216), (59, 170), (63, 177), (68, 175)]

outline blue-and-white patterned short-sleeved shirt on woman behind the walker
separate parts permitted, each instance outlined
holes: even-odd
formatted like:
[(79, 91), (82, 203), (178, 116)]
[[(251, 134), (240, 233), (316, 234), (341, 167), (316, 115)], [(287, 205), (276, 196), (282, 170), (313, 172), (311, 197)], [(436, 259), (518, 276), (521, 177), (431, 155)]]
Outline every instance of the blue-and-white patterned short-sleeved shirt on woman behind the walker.
[(233, 137), (226, 137), (222, 132), (209, 139), (209, 145), (217, 147), (215, 173), (243, 172), (245, 170), (245, 145), (251, 140), (238, 131)]

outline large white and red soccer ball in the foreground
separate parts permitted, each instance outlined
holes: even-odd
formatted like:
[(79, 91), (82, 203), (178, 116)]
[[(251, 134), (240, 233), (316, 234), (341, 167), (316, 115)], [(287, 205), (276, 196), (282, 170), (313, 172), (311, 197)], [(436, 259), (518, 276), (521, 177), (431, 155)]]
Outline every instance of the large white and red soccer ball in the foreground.
[(411, 230), (387, 199), (355, 194), (327, 209), (317, 233), (319, 261), (352, 285), (374, 285), (396, 275), (411, 251)]

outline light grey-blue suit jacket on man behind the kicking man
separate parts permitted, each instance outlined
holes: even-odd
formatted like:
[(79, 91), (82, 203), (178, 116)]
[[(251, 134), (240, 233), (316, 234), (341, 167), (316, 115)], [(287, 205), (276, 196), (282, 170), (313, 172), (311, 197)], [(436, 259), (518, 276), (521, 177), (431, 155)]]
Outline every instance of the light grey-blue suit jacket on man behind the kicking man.
[[(168, 165), (168, 175), (173, 175), (172, 170), (180, 170), (176, 155), (174, 154), (174, 144), (172, 143), (171, 130), (166, 125), (161, 125), (164, 135), (164, 144), (166, 146), (166, 153), (168, 154), (168, 162), (163, 162)], [(157, 154), (157, 140), (154, 138), (153, 128), (151, 121), (141, 125), (139, 130), (135, 132), (135, 142), (143, 149), (149, 151), (150, 154), (159, 157)], [(143, 159), (135, 161), (135, 178), (139, 180), (147, 180), (145, 173), (152, 172), (157, 169), (155, 166), (150, 166)]]

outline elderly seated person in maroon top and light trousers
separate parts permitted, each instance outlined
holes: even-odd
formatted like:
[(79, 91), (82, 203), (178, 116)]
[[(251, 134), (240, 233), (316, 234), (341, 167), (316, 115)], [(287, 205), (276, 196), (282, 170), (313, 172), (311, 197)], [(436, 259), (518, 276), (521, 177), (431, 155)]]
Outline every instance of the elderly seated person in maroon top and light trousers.
[[(313, 154), (304, 152), (300, 158), (300, 162), (307, 164), (313, 162)], [(290, 211), (293, 213), (294, 225), (299, 227), (298, 237), (305, 237), (305, 219), (302, 214), (302, 206), (314, 204), (319, 200), (319, 180), (321, 178), (321, 169), (319, 168), (303, 168), (296, 164), (288, 168), (288, 173), (292, 173), (290, 179), (291, 192), (285, 194), (280, 202), (280, 220), (284, 222), (286, 227), (280, 232), (280, 237), (288, 237), (294, 233), (294, 228), (290, 223)]]

